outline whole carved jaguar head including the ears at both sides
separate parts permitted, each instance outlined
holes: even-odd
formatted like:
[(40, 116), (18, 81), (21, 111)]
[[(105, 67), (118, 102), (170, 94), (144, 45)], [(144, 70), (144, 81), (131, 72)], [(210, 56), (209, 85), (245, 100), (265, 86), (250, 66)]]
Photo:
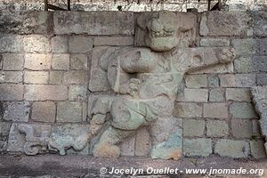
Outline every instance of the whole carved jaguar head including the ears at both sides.
[[(183, 20), (186, 20), (187, 23), (183, 23)], [(169, 51), (181, 43), (182, 32), (193, 28), (192, 24), (194, 24), (194, 20), (189, 20), (188, 17), (174, 12), (143, 13), (137, 19), (138, 28), (141, 28), (143, 34), (138, 36), (140, 32), (137, 30), (135, 40), (142, 40), (143, 37), (144, 44), (153, 51)]]

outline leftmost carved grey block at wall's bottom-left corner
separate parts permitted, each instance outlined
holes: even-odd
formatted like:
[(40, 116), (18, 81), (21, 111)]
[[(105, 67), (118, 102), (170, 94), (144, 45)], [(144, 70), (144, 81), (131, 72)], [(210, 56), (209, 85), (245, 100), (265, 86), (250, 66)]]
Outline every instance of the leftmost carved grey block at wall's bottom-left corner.
[(51, 125), (13, 123), (8, 138), (7, 151), (36, 155), (47, 151)]

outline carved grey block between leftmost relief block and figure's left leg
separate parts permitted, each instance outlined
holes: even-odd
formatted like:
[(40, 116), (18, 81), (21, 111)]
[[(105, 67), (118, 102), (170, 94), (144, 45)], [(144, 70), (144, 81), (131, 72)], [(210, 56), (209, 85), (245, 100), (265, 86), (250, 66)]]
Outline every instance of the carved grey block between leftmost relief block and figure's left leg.
[(89, 139), (89, 125), (58, 125), (53, 126), (48, 149), (60, 151), (61, 155), (66, 154), (66, 150), (71, 147), (74, 150), (83, 150)]

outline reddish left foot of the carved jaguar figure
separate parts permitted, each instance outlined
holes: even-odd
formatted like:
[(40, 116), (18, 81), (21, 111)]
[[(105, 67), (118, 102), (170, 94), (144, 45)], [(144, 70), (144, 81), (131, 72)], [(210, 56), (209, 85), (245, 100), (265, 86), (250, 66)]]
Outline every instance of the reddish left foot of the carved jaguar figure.
[(116, 145), (110, 145), (109, 143), (98, 143), (94, 145), (93, 156), (103, 158), (119, 158), (120, 149)]

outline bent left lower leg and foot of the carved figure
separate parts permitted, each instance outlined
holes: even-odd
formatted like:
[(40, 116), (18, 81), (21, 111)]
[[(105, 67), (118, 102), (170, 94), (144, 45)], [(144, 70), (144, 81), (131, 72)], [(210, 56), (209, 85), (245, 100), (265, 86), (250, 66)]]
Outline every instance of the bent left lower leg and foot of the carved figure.
[(131, 134), (134, 134), (134, 131), (125, 131), (109, 126), (109, 128), (101, 134), (99, 142), (94, 145), (93, 156), (118, 158), (120, 156), (120, 150), (116, 144), (122, 142), (123, 139)]

